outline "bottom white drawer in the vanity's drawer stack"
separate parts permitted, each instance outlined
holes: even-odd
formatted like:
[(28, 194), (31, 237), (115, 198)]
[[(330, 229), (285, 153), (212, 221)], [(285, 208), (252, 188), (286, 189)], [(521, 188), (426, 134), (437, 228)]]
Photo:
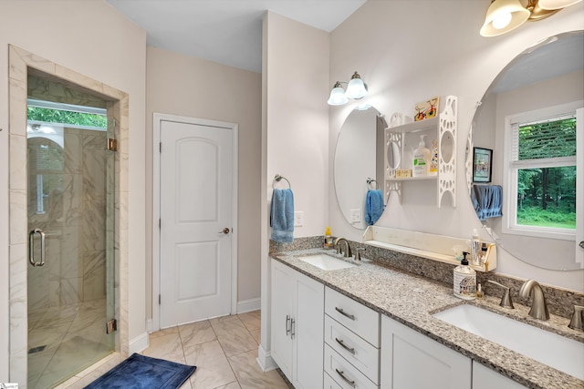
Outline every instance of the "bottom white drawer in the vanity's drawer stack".
[(325, 344), (325, 373), (344, 389), (379, 388), (328, 344)]

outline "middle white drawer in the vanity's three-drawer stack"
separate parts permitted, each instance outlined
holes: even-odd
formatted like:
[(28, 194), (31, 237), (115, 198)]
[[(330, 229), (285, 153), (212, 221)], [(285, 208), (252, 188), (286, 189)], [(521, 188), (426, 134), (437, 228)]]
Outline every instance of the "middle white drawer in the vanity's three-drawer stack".
[(325, 342), (374, 384), (380, 383), (380, 350), (328, 315), (325, 315)]

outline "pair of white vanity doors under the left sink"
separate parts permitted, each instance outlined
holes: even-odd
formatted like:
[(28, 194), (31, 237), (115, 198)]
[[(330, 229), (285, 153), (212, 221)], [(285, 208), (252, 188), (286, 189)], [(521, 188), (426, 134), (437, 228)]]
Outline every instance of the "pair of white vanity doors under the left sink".
[(297, 389), (323, 385), (324, 285), (272, 260), (271, 356)]

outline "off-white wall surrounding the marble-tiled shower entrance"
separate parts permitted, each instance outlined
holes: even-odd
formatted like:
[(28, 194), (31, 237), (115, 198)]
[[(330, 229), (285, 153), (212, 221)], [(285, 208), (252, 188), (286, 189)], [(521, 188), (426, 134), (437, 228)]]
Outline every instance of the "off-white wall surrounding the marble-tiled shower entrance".
[[(90, 17), (88, 17), (90, 15)], [(8, 378), (8, 45), (130, 95), (130, 340), (144, 323), (146, 34), (101, 0), (0, 1), (0, 382)]]

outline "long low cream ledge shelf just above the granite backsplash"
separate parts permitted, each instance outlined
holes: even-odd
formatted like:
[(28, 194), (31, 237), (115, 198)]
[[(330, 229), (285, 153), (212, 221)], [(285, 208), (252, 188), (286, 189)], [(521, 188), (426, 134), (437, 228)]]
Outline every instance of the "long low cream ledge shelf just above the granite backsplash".
[[(453, 247), (466, 247), (467, 241), (464, 238), (378, 226), (369, 226), (363, 234), (363, 243), (367, 245), (453, 265), (460, 264), (455, 258)], [(469, 265), (475, 271), (493, 271), (496, 268), (496, 245), (493, 242), (486, 243), (485, 264)]]

